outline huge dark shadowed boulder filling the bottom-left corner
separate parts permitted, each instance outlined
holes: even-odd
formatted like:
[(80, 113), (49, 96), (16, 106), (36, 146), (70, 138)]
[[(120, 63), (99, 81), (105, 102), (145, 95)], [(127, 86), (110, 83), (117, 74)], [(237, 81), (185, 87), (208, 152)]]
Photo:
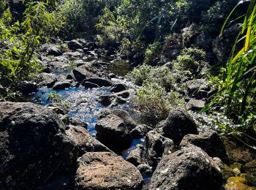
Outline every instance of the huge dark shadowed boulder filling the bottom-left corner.
[(69, 168), (77, 157), (61, 144), (64, 129), (47, 107), (1, 102), (0, 189), (36, 189), (56, 168)]

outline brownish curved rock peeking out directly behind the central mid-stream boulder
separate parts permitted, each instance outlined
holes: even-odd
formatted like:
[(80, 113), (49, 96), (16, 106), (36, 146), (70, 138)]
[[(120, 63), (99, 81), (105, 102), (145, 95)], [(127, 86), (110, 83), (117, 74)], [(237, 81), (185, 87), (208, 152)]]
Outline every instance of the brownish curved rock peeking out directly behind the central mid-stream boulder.
[(107, 117), (107, 115), (110, 115), (110, 114), (117, 115), (119, 118), (121, 118), (124, 121), (125, 126), (127, 126), (129, 130), (134, 129), (137, 126), (135, 121), (132, 119), (129, 113), (127, 113), (127, 111), (125, 110), (102, 109), (102, 111), (98, 115), (98, 118), (102, 119)]

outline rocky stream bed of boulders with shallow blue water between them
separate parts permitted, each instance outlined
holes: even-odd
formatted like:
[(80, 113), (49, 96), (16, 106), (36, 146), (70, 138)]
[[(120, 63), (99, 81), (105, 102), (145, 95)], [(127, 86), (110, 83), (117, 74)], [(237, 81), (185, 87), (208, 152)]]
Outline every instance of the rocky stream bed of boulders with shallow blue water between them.
[(127, 61), (84, 39), (59, 43), (38, 53), (45, 69), (23, 89), (29, 102), (0, 102), (0, 189), (254, 189), (254, 151), (195, 112), (149, 122), (132, 107)]

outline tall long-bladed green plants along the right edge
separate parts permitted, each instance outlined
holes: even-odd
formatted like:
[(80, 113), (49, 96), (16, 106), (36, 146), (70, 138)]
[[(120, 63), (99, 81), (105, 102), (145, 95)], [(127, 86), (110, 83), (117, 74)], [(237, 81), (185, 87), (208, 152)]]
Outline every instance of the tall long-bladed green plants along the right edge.
[[(241, 4), (242, 1), (239, 3)], [(235, 12), (239, 4), (233, 9)], [(230, 15), (233, 14), (230, 13)], [(236, 44), (230, 56), (227, 66), (221, 69), (219, 76), (214, 80), (219, 80), (217, 88), (219, 92), (212, 99), (211, 105), (224, 106), (224, 111), (231, 118), (241, 123), (238, 129), (242, 132), (248, 129), (255, 130), (256, 115), (256, 5), (255, 0), (250, 1), (241, 32), (238, 34)], [(230, 16), (227, 20), (230, 19)], [(227, 22), (226, 22), (227, 23)], [(225, 24), (226, 24), (225, 23)], [(223, 28), (225, 25), (223, 26)], [(223, 29), (222, 29), (223, 30)], [(237, 50), (238, 42), (244, 45)], [(203, 110), (203, 111), (204, 111)], [(249, 123), (249, 124), (248, 124)]]

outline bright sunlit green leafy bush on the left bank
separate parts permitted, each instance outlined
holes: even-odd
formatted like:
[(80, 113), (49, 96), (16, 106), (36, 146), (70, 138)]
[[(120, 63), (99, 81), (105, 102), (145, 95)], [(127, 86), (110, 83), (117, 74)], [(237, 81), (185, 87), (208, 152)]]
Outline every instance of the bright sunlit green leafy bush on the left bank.
[(34, 51), (59, 30), (61, 15), (49, 12), (46, 3), (29, 2), (21, 21), (12, 18), (8, 8), (0, 19), (0, 26), (0, 84), (16, 91), (24, 80), (33, 80), (39, 72), (41, 66)]

